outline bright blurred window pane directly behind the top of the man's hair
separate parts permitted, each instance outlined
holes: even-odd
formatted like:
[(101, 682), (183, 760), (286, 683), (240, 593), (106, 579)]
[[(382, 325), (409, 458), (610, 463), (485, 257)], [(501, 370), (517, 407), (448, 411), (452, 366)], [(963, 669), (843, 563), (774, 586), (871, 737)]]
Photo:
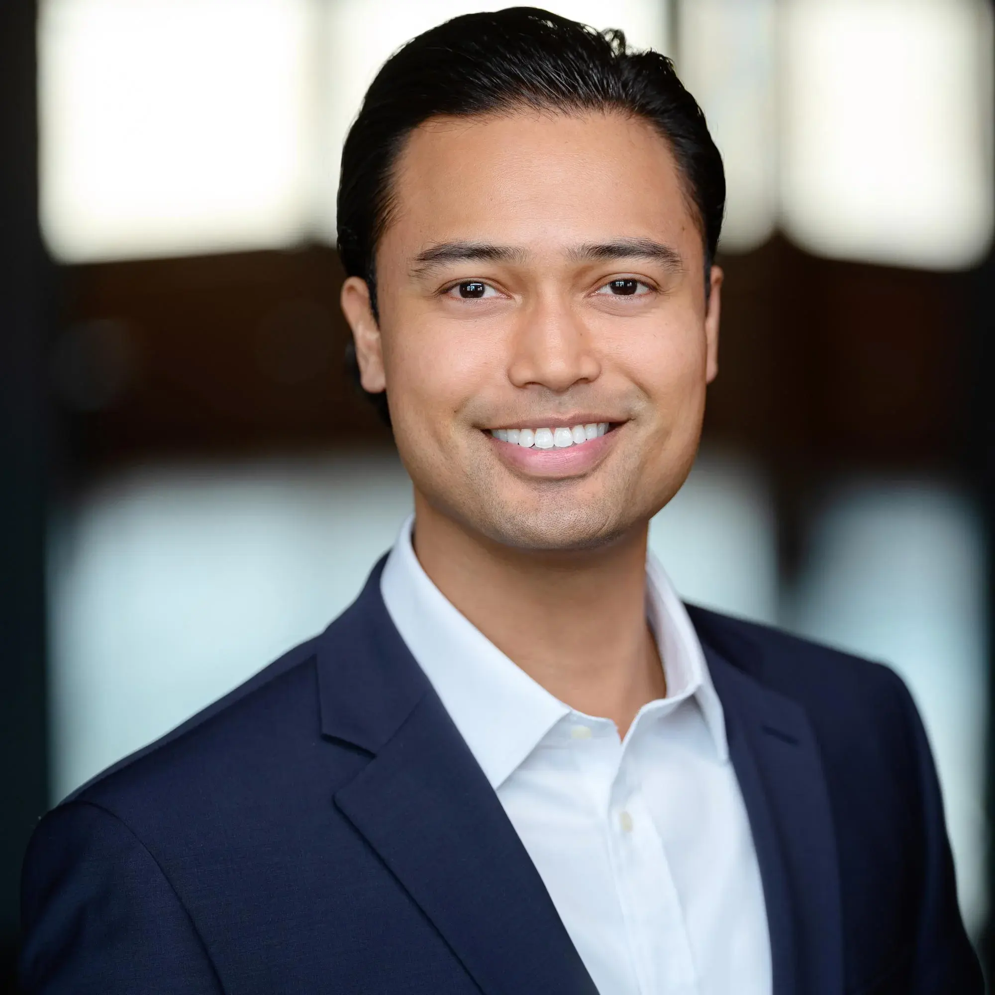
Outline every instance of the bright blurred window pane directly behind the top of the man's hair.
[[(494, 0), (333, 0), (326, 8), (327, 163), (317, 192), (320, 228), (335, 238), (335, 191), (342, 142), (377, 70), (415, 35), (460, 14), (494, 10)], [(640, 48), (667, 51), (665, 0), (550, 0), (542, 6), (595, 28), (621, 28)]]

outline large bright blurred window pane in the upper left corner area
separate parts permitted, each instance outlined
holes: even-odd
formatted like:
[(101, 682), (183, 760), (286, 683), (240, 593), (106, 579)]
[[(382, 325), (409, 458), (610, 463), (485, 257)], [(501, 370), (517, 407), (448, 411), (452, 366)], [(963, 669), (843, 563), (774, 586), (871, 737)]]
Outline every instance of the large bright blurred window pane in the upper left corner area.
[(293, 244), (307, 0), (42, 0), (41, 215), (67, 262)]

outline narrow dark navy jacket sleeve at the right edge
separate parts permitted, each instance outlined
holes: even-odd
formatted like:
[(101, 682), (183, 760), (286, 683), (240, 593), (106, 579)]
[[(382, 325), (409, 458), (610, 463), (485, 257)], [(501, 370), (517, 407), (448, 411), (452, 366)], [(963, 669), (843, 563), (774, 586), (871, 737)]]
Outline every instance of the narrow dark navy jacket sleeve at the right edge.
[(909, 995), (983, 995), (985, 983), (957, 904), (953, 858), (943, 799), (922, 720), (904, 684), (896, 679), (907, 744), (918, 775), (923, 840), (917, 935)]

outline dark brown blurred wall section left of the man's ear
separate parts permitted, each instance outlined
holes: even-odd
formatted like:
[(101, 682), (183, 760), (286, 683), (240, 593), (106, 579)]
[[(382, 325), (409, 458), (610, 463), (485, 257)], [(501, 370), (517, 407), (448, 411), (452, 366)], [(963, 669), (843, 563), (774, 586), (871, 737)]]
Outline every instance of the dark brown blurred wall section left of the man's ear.
[(334, 249), (68, 268), (53, 387), (74, 466), (390, 445), (345, 377)]

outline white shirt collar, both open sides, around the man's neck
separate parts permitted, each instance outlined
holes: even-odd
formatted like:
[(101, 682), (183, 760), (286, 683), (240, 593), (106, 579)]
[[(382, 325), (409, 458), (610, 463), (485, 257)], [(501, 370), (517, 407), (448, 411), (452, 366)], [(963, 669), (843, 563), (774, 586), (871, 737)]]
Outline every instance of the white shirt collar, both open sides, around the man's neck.
[[(571, 708), (516, 667), (422, 569), (409, 515), (387, 557), (380, 592), (492, 787), (502, 784)], [(647, 617), (667, 677), (666, 700), (696, 697), (719, 758), (728, 756), (721, 702), (695, 628), (663, 567), (647, 564)]]

